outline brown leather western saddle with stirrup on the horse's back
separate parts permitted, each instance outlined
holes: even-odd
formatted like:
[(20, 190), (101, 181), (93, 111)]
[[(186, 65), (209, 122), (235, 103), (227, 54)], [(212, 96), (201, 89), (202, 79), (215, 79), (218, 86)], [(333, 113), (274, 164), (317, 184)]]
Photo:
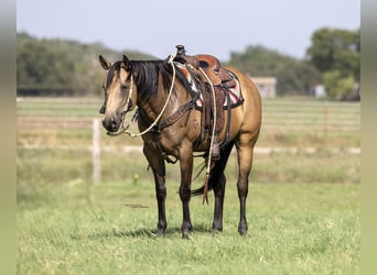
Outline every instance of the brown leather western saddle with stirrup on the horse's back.
[[(209, 138), (213, 139), (211, 156), (216, 161), (220, 157), (218, 134), (222, 132), (225, 121), (224, 100), (228, 89), (234, 88), (237, 84), (215, 56), (206, 54), (190, 56), (185, 53), (183, 45), (176, 45), (174, 62), (185, 64), (201, 87), (203, 94), (202, 125), (204, 129), (201, 140), (207, 135), (208, 131), (211, 133), (215, 127), (214, 136), (209, 134)], [(214, 106), (216, 106), (216, 117), (214, 116)], [(229, 114), (230, 112), (228, 112), (228, 124), (230, 123)]]

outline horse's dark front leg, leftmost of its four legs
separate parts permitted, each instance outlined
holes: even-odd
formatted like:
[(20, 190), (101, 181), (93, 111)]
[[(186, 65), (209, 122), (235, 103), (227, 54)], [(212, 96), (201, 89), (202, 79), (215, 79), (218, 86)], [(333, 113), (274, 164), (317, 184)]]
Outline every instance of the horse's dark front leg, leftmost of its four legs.
[(149, 162), (150, 167), (153, 170), (155, 197), (158, 201), (159, 220), (158, 220), (158, 234), (162, 235), (166, 228), (166, 213), (165, 213), (165, 200), (166, 200), (166, 186), (165, 186), (165, 164), (161, 160), (159, 154), (153, 154), (148, 147), (143, 148), (144, 155)]

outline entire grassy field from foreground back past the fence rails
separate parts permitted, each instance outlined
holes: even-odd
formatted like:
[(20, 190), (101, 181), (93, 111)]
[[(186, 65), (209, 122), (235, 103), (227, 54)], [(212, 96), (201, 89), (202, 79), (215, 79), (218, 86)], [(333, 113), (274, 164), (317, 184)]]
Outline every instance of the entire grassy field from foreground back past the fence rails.
[[(76, 101), (20, 101), (18, 113), (23, 119), (91, 118), (101, 100)], [(267, 123), (287, 102), (294, 100), (269, 102)], [(294, 111), (299, 109), (304, 109), (302, 102)], [(360, 274), (360, 156), (346, 152), (359, 146), (359, 132), (265, 130), (258, 146), (320, 150), (256, 154), (246, 237), (237, 232), (237, 165), (231, 155), (224, 231), (211, 232), (213, 194), (209, 206), (194, 197), (193, 232), (182, 240), (179, 166), (168, 166), (169, 227), (160, 238), (154, 233), (152, 174), (142, 155), (122, 152), (140, 139), (112, 139), (103, 131), (101, 145), (115, 151), (101, 152), (101, 182), (94, 185), (90, 128), (19, 128), (18, 274)], [(62, 145), (68, 148), (55, 148)], [(331, 153), (333, 147), (341, 151)], [(200, 178), (193, 187), (202, 183)]]

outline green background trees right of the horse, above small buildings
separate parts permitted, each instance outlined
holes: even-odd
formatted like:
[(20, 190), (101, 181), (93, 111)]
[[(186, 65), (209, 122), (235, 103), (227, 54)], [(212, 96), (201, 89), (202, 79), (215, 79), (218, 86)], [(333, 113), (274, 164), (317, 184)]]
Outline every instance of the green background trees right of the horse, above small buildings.
[(312, 95), (323, 84), (327, 98), (358, 100), (360, 80), (360, 32), (323, 28), (312, 34), (304, 59), (263, 46), (230, 53), (229, 64), (251, 76), (276, 76), (278, 95)]

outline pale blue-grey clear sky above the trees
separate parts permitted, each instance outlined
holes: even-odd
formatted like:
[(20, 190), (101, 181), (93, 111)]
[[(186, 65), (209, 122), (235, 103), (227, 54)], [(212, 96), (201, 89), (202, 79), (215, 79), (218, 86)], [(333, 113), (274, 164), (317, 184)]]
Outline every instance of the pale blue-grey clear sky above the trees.
[(17, 31), (39, 38), (103, 43), (165, 58), (183, 44), (188, 55), (228, 61), (249, 45), (304, 58), (321, 28), (355, 31), (360, 0), (18, 0)]

